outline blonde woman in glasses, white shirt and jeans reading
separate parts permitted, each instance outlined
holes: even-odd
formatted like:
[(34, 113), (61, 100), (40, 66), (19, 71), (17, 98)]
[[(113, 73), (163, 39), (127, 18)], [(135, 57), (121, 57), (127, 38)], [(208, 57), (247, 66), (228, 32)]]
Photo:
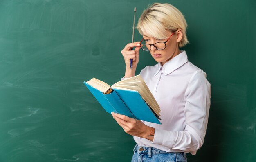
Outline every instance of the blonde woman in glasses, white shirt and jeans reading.
[(186, 27), (177, 8), (171, 4), (152, 4), (137, 24), (144, 42), (129, 43), (121, 51), (126, 63), (123, 79), (135, 76), (140, 48), (149, 51), (158, 62), (146, 66), (140, 75), (161, 107), (162, 125), (112, 113), (137, 143), (132, 162), (186, 162), (186, 153), (195, 155), (204, 142), (211, 85), (205, 72), (189, 62), (186, 52), (180, 50), (188, 43)]

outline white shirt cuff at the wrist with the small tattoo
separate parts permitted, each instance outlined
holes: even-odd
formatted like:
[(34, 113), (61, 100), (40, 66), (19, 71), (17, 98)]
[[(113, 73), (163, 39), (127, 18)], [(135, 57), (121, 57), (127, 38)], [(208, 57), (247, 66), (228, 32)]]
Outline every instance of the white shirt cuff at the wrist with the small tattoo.
[(168, 146), (170, 149), (175, 144), (175, 132), (155, 128), (153, 144)]

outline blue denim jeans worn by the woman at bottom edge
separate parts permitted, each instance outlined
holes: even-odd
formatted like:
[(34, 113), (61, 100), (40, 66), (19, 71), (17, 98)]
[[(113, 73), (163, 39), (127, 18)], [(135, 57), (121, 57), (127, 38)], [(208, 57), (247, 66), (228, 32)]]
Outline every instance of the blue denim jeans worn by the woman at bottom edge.
[(136, 144), (133, 149), (132, 162), (187, 162), (184, 152), (166, 152), (154, 147), (141, 147)]

